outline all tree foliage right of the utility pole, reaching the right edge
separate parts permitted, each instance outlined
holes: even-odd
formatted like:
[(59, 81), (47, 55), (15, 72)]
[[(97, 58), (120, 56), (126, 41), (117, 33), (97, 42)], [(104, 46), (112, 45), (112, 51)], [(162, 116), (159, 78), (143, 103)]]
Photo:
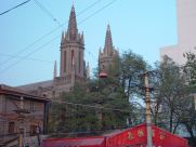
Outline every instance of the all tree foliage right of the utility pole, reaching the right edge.
[(168, 56), (164, 56), (162, 62), (156, 65), (159, 76), (154, 79), (156, 91), (151, 95), (154, 102), (152, 113), (156, 124), (172, 133), (177, 132), (179, 124), (183, 124), (191, 135), (192, 143), (196, 143), (196, 111), (193, 105), (196, 59), (192, 53), (186, 53), (185, 56), (187, 62), (183, 68)]

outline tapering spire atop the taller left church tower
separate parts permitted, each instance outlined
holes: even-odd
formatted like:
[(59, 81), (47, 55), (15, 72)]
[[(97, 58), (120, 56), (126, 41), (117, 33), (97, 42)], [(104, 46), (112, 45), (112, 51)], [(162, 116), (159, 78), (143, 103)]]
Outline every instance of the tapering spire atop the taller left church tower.
[(69, 15), (69, 23), (68, 23), (68, 30), (67, 30), (69, 38), (71, 40), (76, 40), (77, 35), (78, 35), (78, 29), (77, 29), (77, 23), (76, 23), (76, 13), (75, 13), (75, 8), (74, 5), (71, 6), (70, 10), (70, 15)]

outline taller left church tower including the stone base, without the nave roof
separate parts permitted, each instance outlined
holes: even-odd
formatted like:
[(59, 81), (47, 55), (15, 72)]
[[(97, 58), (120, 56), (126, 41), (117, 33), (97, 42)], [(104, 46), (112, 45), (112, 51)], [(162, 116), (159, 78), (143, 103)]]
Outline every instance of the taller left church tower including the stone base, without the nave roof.
[(62, 32), (60, 48), (60, 77), (53, 80), (54, 95), (70, 91), (76, 82), (79, 83), (86, 79), (83, 32), (78, 32), (74, 5), (70, 10), (67, 31)]

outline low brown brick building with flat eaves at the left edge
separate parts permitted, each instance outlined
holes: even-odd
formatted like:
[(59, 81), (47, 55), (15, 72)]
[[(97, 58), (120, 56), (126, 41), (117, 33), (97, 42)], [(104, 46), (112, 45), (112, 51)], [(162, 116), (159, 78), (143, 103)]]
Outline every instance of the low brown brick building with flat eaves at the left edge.
[[(45, 97), (30, 95), (16, 88), (0, 84), (0, 146), (17, 139), (21, 126), (26, 137), (35, 135), (38, 125), (40, 133), (45, 133), (49, 102)], [(24, 111), (24, 123), (19, 121), (19, 110)]]

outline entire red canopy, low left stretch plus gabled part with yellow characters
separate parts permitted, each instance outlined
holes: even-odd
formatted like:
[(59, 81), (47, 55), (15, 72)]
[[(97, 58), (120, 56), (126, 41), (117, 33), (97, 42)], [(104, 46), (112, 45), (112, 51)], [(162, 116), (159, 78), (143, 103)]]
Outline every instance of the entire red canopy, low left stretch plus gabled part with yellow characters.
[[(152, 125), (153, 147), (187, 147), (187, 141)], [(97, 137), (48, 138), (41, 147), (146, 147), (146, 123)]]

